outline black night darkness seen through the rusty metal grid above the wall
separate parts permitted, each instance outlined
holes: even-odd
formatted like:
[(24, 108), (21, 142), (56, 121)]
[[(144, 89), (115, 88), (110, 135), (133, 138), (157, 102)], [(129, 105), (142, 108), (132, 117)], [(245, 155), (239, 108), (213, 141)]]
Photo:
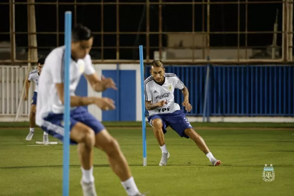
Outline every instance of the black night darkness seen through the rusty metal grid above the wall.
[[(228, 0), (226, 0), (228, 1)], [(9, 2), (1, 0), (1, 2)], [(27, 0), (15, 0), (15, 2), (27, 2)], [(56, 0), (35, 0), (35, 2), (56, 2)], [(58, 2), (74, 2), (73, 0), (58, 0)], [(76, 0), (76, 2), (101, 2), (99, 0)], [(116, 2), (107, 0), (104, 2)], [(145, 0), (120, 0), (119, 2), (145, 2)], [(158, 0), (150, 0), (158, 2)], [(162, 2), (192, 2), (192, 0), (162, 0)], [(202, 0), (195, 0), (202, 2)], [(210, 0), (210, 2), (224, 2), (222, 0)], [(231, 0), (230, 2), (237, 2)], [(245, 0), (240, 0), (245, 2)], [(250, 2), (250, 0), (248, 0)], [(281, 1), (282, 2), (282, 1)], [(202, 5), (195, 6), (195, 31), (202, 31)], [(272, 4), (249, 4), (248, 5), (248, 31), (273, 31), (276, 17), (276, 10), (279, 9), (278, 31), (282, 31), (282, 3)], [(58, 28), (59, 32), (64, 31), (64, 12), (70, 10), (73, 13), (74, 5), (58, 5)], [(77, 22), (88, 26), (93, 32), (101, 32), (101, 5), (77, 5)], [(144, 5), (119, 5), (119, 31), (140, 32), (146, 31), (146, 17), (143, 16), (142, 25), (139, 28), (140, 19)], [(240, 31), (245, 31), (246, 5), (240, 4)], [(116, 5), (104, 5), (104, 32), (116, 32)], [(204, 6), (204, 21), (206, 31), (206, 5)], [(37, 32), (56, 32), (56, 5), (35, 5)], [(9, 5), (0, 5), (0, 17), (2, 25), (0, 32), (9, 32)], [(27, 31), (27, 5), (15, 5), (15, 30), (16, 32)], [(162, 29), (163, 32), (192, 32), (192, 5), (162, 5)], [(150, 31), (159, 31), (158, 5), (150, 5)], [(210, 5), (210, 31), (229, 32), (238, 31), (238, 5)], [(135, 42), (136, 37), (139, 38)], [(272, 34), (248, 34), (248, 47), (266, 47), (272, 44)], [(59, 35), (59, 46), (63, 45), (64, 35)], [(163, 47), (166, 46), (166, 38), (163, 35)], [(48, 47), (45, 53), (57, 46), (56, 35), (37, 35), (38, 46)], [(278, 34), (277, 45), (281, 46), (282, 35)], [(0, 41), (9, 41), (8, 35), (1, 35)], [(116, 46), (116, 35), (104, 35), (104, 46)], [(120, 46), (146, 46), (146, 35), (120, 35)], [(27, 34), (16, 35), (16, 45), (27, 47)], [(93, 46), (101, 46), (101, 35), (95, 35)], [(150, 46), (159, 46), (159, 35), (150, 35)], [(238, 46), (237, 34), (210, 35), (210, 46)], [(245, 34), (240, 35), (240, 46), (245, 46)], [(100, 49), (93, 49), (93, 52)], [(137, 50), (137, 49), (136, 49)], [(150, 49), (150, 58), (153, 51)], [(39, 53), (42, 49), (39, 50)], [(146, 54), (146, 52), (144, 52)], [(115, 49), (104, 49), (104, 59), (115, 59)], [(138, 59), (134, 56), (132, 49), (120, 49), (120, 59)], [(93, 58), (94, 59), (94, 58)]]

